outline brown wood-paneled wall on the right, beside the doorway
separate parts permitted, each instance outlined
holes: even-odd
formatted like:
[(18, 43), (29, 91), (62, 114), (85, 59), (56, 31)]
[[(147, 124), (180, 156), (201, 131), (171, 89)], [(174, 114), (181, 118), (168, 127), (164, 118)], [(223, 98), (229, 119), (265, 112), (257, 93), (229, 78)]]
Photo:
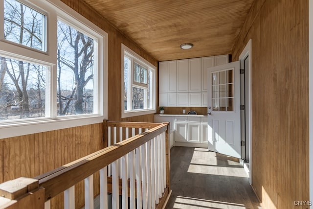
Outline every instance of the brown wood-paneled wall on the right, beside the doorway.
[(308, 2), (255, 0), (232, 52), (252, 40), (252, 181), (267, 209), (309, 200)]

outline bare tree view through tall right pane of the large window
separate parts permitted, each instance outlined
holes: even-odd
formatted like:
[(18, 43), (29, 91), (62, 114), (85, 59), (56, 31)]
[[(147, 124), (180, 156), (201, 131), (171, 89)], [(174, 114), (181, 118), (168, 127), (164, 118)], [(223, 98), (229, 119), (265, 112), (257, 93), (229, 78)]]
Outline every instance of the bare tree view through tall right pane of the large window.
[(93, 39), (58, 21), (58, 115), (93, 113)]

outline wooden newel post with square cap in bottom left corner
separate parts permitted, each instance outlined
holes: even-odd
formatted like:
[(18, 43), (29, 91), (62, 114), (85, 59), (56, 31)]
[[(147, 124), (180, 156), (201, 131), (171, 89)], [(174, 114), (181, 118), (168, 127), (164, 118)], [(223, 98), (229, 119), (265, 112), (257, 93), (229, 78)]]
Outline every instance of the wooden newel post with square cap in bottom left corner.
[(44, 209), (45, 189), (37, 179), (20, 177), (0, 184), (1, 209)]

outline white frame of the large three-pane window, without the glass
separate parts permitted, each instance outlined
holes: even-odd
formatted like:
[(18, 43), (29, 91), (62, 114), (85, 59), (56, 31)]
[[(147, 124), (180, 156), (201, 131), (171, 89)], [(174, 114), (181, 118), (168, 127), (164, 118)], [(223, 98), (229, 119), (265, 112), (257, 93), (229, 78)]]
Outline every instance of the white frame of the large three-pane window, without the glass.
[[(49, 89), (46, 90), (45, 103), (48, 106), (46, 105), (45, 117), (1, 121), (0, 139), (103, 122), (108, 112), (108, 33), (61, 1), (19, 1), (46, 15), (46, 52), (4, 40), (4, 35), (0, 32), (0, 54), (47, 68), (46, 89)], [(0, 9), (3, 10), (3, 6), (3, 0), (0, 0)], [(94, 95), (97, 95), (97, 98), (94, 98), (94, 103), (97, 105), (93, 114), (57, 116), (57, 20), (66, 20), (65, 23), (96, 39), (97, 46), (94, 46), (94, 51), (98, 56), (94, 61), (94, 66), (97, 66), (94, 86), (97, 88), (94, 89)], [(3, 16), (0, 21), (0, 31), (3, 31)]]

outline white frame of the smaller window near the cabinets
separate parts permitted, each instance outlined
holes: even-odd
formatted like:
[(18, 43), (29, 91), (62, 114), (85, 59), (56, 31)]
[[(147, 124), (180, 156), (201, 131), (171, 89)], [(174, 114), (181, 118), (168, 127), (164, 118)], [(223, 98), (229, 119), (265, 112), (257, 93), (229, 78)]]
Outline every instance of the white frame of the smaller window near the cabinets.
[[(148, 82), (148, 76), (149, 76), (149, 70), (152, 70), (153, 73), (153, 80), (152, 80), (152, 91), (150, 91), (151, 95), (151, 100), (148, 100), (147, 98), (147, 102), (149, 101), (150, 104), (152, 105), (151, 108), (149, 109), (139, 109), (139, 110), (130, 110), (130, 111), (125, 111), (124, 107), (124, 57), (127, 56), (131, 59), (131, 73), (130, 76), (128, 78), (128, 82), (131, 83), (130, 85), (130, 89), (128, 91), (128, 97), (132, 98), (132, 87), (138, 87), (138, 88), (142, 88), (142, 89), (147, 89), (148, 90), (148, 84), (144, 85), (138, 82), (134, 82), (134, 63), (139, 64), (142, 67), (146, 67), (147, 69), (147, 82)], [(142, 115), (148, 115), (148, 114), (155, 114), (156, 113), (156, 67), (154, 65), (152, 65), (151, 63), (149, 63), (147, 60), (145, 60), (144, 58), (142, 58), (140, 55), (138, 55), (137, 53), (135, 53), (132, 49), (130, 49), (129, 47), (125, 46), (124, 44), (121, 44), (121, 117), (132, 117), (132, 116), (142, 116)], [(128, 106), (132, 107), (132, 103), (128, 104)]]

